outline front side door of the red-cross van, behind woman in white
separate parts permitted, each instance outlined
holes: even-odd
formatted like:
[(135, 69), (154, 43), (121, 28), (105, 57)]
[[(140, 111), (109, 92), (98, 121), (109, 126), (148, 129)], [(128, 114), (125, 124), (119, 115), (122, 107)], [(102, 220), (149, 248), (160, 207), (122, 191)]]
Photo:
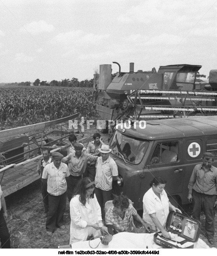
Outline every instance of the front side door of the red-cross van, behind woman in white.
[(162, 176), (167, 184), (167, 195), (177, 195), (183, 190), (183, 161), (181, 139), (156, 141), (147, 159), (141, 177), (138, 209), (143, 208), (143, 196), (150, 188), (150, 182), (156, 176)]

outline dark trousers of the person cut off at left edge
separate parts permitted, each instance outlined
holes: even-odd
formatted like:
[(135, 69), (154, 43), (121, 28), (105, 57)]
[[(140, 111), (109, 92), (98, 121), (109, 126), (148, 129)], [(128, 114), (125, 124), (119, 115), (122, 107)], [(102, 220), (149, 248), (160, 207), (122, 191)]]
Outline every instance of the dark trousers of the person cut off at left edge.
[(5, 222), (5, 218), (3, 216), (3, 209), (1, 208), (0, 211), (0, 241), (1, 241), (1, 248), (2, 249), (9, 249), (11, 248), (10, 244), (10, 234), (7, 229), (7, 225)]

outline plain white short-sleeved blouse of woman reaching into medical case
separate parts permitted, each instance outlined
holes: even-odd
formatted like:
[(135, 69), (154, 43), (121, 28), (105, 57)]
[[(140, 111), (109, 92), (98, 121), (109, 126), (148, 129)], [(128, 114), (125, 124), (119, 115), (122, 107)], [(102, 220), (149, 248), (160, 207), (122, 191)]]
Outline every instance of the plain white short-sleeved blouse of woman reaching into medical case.
[(154, 194), (152, 187), (143, 197), (143, 220), (150, 224), (153, 230), (155, 230), (155, 224), (149, 214), (156, 213), (156, 217), (162, 227), (165, 227), (166, 219), (169, 215), (169, 199), (165, 190), (160, 194), (160, 199)]

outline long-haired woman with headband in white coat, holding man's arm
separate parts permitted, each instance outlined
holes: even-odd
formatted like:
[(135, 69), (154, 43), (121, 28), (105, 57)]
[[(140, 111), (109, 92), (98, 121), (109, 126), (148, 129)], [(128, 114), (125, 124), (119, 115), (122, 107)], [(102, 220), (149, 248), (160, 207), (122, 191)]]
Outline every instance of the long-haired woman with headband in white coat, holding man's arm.
[[(94, 182), (90, 178), (84, 178), (79, 181), (70, 201), (70, 244), (86, 241), (88, 236), (101, 236), (101, 230), (107, 234), (94, 189)], [(102, 244), (108, 245), (111, 239), (107, 236), (101, 240)]]

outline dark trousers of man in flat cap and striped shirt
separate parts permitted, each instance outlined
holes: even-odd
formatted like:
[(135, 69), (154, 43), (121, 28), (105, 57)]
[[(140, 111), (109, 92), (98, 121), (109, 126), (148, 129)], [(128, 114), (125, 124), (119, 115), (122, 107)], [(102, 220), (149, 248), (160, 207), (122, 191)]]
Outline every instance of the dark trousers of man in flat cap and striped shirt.
[(48, 194), (49, 209), (46, 221), (46, 230), (53, 232), (55, 227), (60, 228), (64, 225), (63, 214), (66, 207), (67, 192), (60, 196)]

